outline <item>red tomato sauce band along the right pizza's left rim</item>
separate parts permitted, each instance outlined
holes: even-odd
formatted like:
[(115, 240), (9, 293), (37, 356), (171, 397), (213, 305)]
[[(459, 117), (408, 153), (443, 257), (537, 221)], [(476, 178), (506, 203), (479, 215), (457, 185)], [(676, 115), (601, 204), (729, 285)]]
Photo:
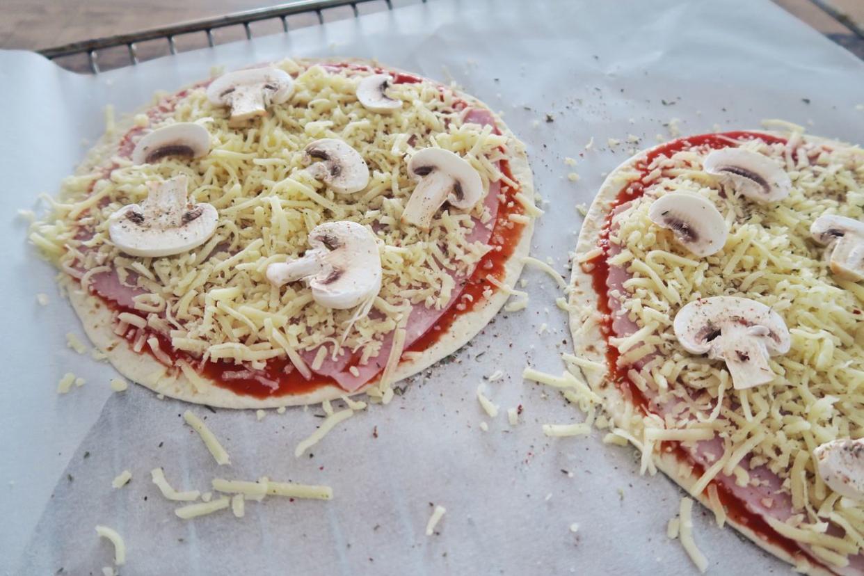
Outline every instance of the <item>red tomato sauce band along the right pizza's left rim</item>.
[[(633, 169), (640, 174), (640, 177), (632, 180), (629, 185), (621, 190), (607, 214), (606, 221), (600, 231), (600, 240), (598, 241), (598, 247), (602, 250), (602, 253), (588, 261), (588, 263), (591, 263), (594, 266), (589, 274), (591, 275), (592, 288), (594, 288), (594, 293), (597, 294), (597, 309), (600, 314), (602, 314), (600, 320), (600, 332), (602, 332), (603, 338), (606, 340), (606, 361), (609, 374), (612, 377), (615, 386), (617, 386), (629, 400), (637, 405), (642, 410), (643, 414), (647, 414), (650, 411), (650, 402), (645, 394), (643, 394), (636, 384), (632, 382), (630, 377), (627, 376), (626, 368), (619, 367), (619, 351), (615, 346), (609, 343), (609, 338), (614, 336), (614, 333), (612, 327), (612, 308), (609, 306), (609, 294), (607, 288), (607, 280), (609, 278), (607, 252), (609, 249), (609, 227), (612, 225), (614, 209), (615, 207), (621, 206), (645, 193), (645, 185), (642, 183), (642, 180), (644, 180), (645, 176), (650, 172), (648, 166), (650, 166), (651, 162), (658, 156), (670, 156), (681, 150), (702, 146), (706, 146), (710, 149), (728, 148), (731, 143), (729, 142), (730, 139), (746, 140), (753, 138), (759, 138), (760, 140), (770, 144), (786, 142), (784, 138), (778, 138), (777, 136), (771, 136), (759, 132), (737, 131), (725, 132), (722, 134), (689, 136), (687, 138), (674, 140), (664, 146), (659, 146), (656, 149), (652, 149), (647, 155), (645, 155), (644, 159), (638, 161), (633, 167)], [(693, 473), (696, 474), (697, 477), (702, 476), (702, 473), (705, 472), (704, 466), (694, 462), (690, 458), (689, 453), (677, 442), (664, 442), (663, 450), (664, 452), (674, 454), (679, 461), (692, 465)], [(798, 547), (795, 541), (778, 534), (764, 518), (754, 514), (750, 510), (747, 510), (744, 503), (742, 503), (740, 499), (732, 493), (732, 491), (729, 491), (726, 486), (714, 480), (711, 481), (711, 484), (715, 485), (720, 501), (723, 506), (726, 507), (727, 515), (735, 522), (739, 522), (748, 529), (753, 530), (753, 532), (759, 535), (763, 540), (768, 541), (779, 548), (783, 548), (787, 554), (790, 554), (793, 557), (803, 554), (801, 548)]]

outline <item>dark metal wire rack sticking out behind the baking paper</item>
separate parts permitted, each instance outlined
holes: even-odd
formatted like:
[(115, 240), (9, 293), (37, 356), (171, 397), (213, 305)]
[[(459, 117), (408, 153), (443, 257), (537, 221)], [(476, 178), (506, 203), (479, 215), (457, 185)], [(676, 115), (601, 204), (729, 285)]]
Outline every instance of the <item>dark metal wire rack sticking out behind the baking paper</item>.
[[(414, 0), (410, 3), (426, 3), (427, 0)], [(377, 4), (377, 6), (375, 6)], [(400, 3), (403, 4), (403, 3)], [(344, 11), (340, 15), (335, 15), (334, 20), (344, 19), (346, 17), (360, 16), (359, 6), (369, 5), (371, 11), (382, 11), (393, 9), (393, 0), (294, 0), (293, 2), (278, 4), (268, 8), (246, 10), (226, 16), (216, 16), (204, 20), (196, 20), (193, 22), (181, 22), (162, 28), (152, 28), (136, 32), (133, 34), (121, 34), (108, 36), (105, 38), (95, 38), (92, 40), (73, 42), (65, 46), (51, 47), (40, 50), (39, 54), (47, 57), (49, 60), (61, 60), (68, 57), (76, 57), (86, 55), (86, 68), (83, 70), (81, 66), (75, 64), (67, 65), (67, 67), (76, 72), (83, 72), (89, 69), (89, 72), (98, 74), (103, 66), (99, 64), (99, 55), (105, 52), (113, 51), (113, 58), (110, 67), (120, 67), (137, 65), (142, 60), (149, 60), (158, 56), (167, 54), (177, 54), (185, 51), (178, 47), (177, 39), (181, 36), (190, 35), (205, 35), (206, 44), (201, 43), (199, 46), (193, 45), (187, 49), (197, 47), (216, 46), (217, 41), (215, 31), (222, 28), (237, 28), (242, 27), (245, 38), (251, 40), (253, 36), (252, 24), (255, 22), (281, 22), (282, 31), (287, 33), (291, 28), (289, 18), (292, 16), (306, 16), (302, 20), (302, 25), (310, 25), (314, 23), (323, 24), (329, 15), (334, 13), (334, 9), (350, 7), (350, 12), (347, 15)], [(309, 16), (312, 16), (311, 18)], [(273, 30), (276, 31), (276, 30)], [(203, 37), (201, 38), (203, 40)], [(231, 40), (236, 40), (232, 38)], [(139, 54), (139, 46), (149, 41), (163, 41), (162, 50), (149, 50), (146, 57)], [(125, 58), (118, 58), (116, 48), (125, 48)]]

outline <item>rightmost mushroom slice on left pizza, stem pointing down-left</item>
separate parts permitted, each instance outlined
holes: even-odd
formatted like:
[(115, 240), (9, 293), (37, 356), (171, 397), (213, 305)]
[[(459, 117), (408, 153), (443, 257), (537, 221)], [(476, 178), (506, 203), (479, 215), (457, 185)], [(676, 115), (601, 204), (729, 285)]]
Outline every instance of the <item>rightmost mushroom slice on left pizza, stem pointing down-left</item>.
[(480, 174), (467, 161), (449, 150), (418, 150), (408, 162), (408, 172), (420, 180), (402, 212), (404, 223), (429, 230), (435, 212), (448, 201), (469, 210), (483, 196)]

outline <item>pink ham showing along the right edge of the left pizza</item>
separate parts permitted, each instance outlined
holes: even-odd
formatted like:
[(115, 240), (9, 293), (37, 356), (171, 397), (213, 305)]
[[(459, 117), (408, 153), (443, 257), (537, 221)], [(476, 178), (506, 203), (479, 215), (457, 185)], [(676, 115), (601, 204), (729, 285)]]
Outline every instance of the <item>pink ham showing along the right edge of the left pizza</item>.
[[(465, 112), (463, 116), (463, 122), (466, 123), (477, 123), (480, 125), (490, 124), (492, 126), (495, 125), (495, 118), (492, 116), (492, 112), (482, 109), (469, 109)], [(496, 129), (497, 130), (497, 129)], [(481, 242), (483, 244), (489, 243), (489, 238), (492, 237), (492, 228), (495, 225), (495, 218), (498, 215), (498, 206), (499, 206), (499, 192), (500, 192), (500, 184), (499, 182), (491, 182), (489, 185), (489, 193), (486, 194), (486, 200), (484, 201), (486, 208), (489, 210), (489, 213), (492, 215), (492, 218), (489, 220), (487, 225), (483, 225), (480, 220), (477, 218), (473, 218), (474, 220), (474, 228), (470, 234), (467, 236), (468, 242)], [(462, 287), (464, 286), (464, 281), (466, 280), (466, 276), (461, 275), (452, 275), (454, 279), (454, 288), (453, 292), (450, 295), (450, 301), (446, 307), (443, 307), (441, 310), (436, 310), (435, 308), (428, 308), (423, 306), (422, 304), (416, 304), (414, 307), (411, 307), (410, 316), (408, 319), (408, 323), (405, 325), (405, 345), (404, 347), (407, 349), (412, 345), (416, 339), (420, 338), (426, 332), (435, 326), (435, 322), (438, 321), (442, 317), (444, 313), (446, 313), (449, 307), (453, 306), (456, 301), (459, 300), (459, 295), (462, 292)], [(467, 276), (470, 277), (470, 274)], [(361, 388), (365, 383), (372, 380), (381, 370), (384, 370), (384, 365), (387, 364), (388, 358), (390, 358), (390, 352), (393, 347), (393, 334), (387, 334), (384, 337), (384, 341), (381, 345), (380, 351), (378, 351), (378, 356), (375, 358), (370, 358), (369, 362), (365, 365), (357, 365), (357, 375), (353, 375), (348, 371), (348, 364), (351, 360), (351, 355), (345, 354), (336, 360), (333, 360), (332, 356), (328, 355), (327, 359), (324, 360), (324, 364), (321, 364), (321, 368), (318, 370), (314, 370), (315, 373), (320, 374), (321, 376), (327, 376), (333, 378), (337, 383), (339, 383), (340, 387), (348, 390), (349, 392), (353, 392), (356, 389)], [(307, 351), (303, 353), (303, 359), (307, 364), (311, 364), (312, 360), (315, 357), (316, 350)]]

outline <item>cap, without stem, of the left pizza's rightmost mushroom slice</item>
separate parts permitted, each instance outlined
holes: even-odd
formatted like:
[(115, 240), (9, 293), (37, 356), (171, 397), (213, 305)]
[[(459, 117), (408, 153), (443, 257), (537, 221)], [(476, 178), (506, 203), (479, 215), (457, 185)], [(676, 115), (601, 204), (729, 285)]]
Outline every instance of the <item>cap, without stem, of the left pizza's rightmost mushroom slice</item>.
[(447, 174), (452, 180), (452, 183), (441, 191), (442, 201), (435, 206), (436, 210), (444, 203), (444, 199), (447, 199), (450, 206), (468, 210), (483, 197), (480, 174), (467, 160), (449, 150), (424, 148), (416, 151), (408, 162), (408, 172), (417, 180), (422, 180), (433, 172)]

